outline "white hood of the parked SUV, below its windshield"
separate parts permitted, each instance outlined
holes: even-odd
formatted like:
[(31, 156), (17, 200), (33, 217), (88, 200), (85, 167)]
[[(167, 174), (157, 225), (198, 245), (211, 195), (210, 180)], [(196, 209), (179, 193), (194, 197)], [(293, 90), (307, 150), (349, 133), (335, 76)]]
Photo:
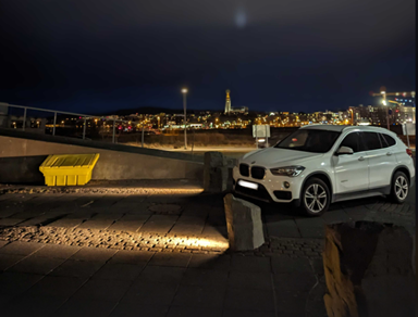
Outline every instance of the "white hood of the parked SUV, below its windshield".
[(297, 150), (286, 150), (279, 148), (268, 148), (256, 150), (245, 154), (239, 162), (249, 165), (260, 165), (265, 167), (281, 167), (285, 165), (300, 164), (314, 157), (321, 157), (321, 153), (309, 153)]

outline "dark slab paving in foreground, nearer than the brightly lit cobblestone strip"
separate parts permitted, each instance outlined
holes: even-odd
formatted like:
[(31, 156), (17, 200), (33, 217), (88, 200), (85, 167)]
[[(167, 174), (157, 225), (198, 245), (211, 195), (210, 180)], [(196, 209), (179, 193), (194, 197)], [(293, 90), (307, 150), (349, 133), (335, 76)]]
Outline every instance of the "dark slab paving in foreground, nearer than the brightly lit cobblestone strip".
[(327, 316), (321, 259), (12, 242), (0, 265), (2, 316)]

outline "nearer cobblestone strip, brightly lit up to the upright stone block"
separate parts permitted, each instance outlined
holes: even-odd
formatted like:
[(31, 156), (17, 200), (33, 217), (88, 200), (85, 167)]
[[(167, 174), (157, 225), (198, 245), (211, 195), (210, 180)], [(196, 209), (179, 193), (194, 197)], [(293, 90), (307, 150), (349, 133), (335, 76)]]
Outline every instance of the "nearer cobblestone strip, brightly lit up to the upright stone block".
[[(116, 250), (182, 252), (194, 254), (228, 253), (226, 239), (208, 239), (194, 236), (130, 233), (114, 230), (95, 230), (59, 227), (10, 227), (0, 229), (0, 241), (54, 243), (72, 246), (91, 246)], [(267, 242), (244, 255), (291, 257), (321, 256), (323, 241), (320, 239), (268, 238)]]

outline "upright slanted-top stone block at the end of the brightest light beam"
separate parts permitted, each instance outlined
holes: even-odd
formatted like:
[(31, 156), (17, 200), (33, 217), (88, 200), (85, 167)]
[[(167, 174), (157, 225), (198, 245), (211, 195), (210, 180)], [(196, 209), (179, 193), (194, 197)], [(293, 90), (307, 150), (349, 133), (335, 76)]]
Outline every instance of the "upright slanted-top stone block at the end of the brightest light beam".
[(223, 199), (230, 249), (248, 251), (265, 243), (261, 210), (229, 193)]

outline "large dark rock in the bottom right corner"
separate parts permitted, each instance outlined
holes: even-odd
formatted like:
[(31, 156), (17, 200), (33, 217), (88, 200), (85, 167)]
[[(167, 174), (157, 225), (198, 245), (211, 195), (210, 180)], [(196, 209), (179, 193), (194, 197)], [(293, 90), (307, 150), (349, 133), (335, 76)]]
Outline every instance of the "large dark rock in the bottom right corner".
[(357, 221), (325, 228), (329, 317), (415, 316), (413, 239), (403, 227)]

